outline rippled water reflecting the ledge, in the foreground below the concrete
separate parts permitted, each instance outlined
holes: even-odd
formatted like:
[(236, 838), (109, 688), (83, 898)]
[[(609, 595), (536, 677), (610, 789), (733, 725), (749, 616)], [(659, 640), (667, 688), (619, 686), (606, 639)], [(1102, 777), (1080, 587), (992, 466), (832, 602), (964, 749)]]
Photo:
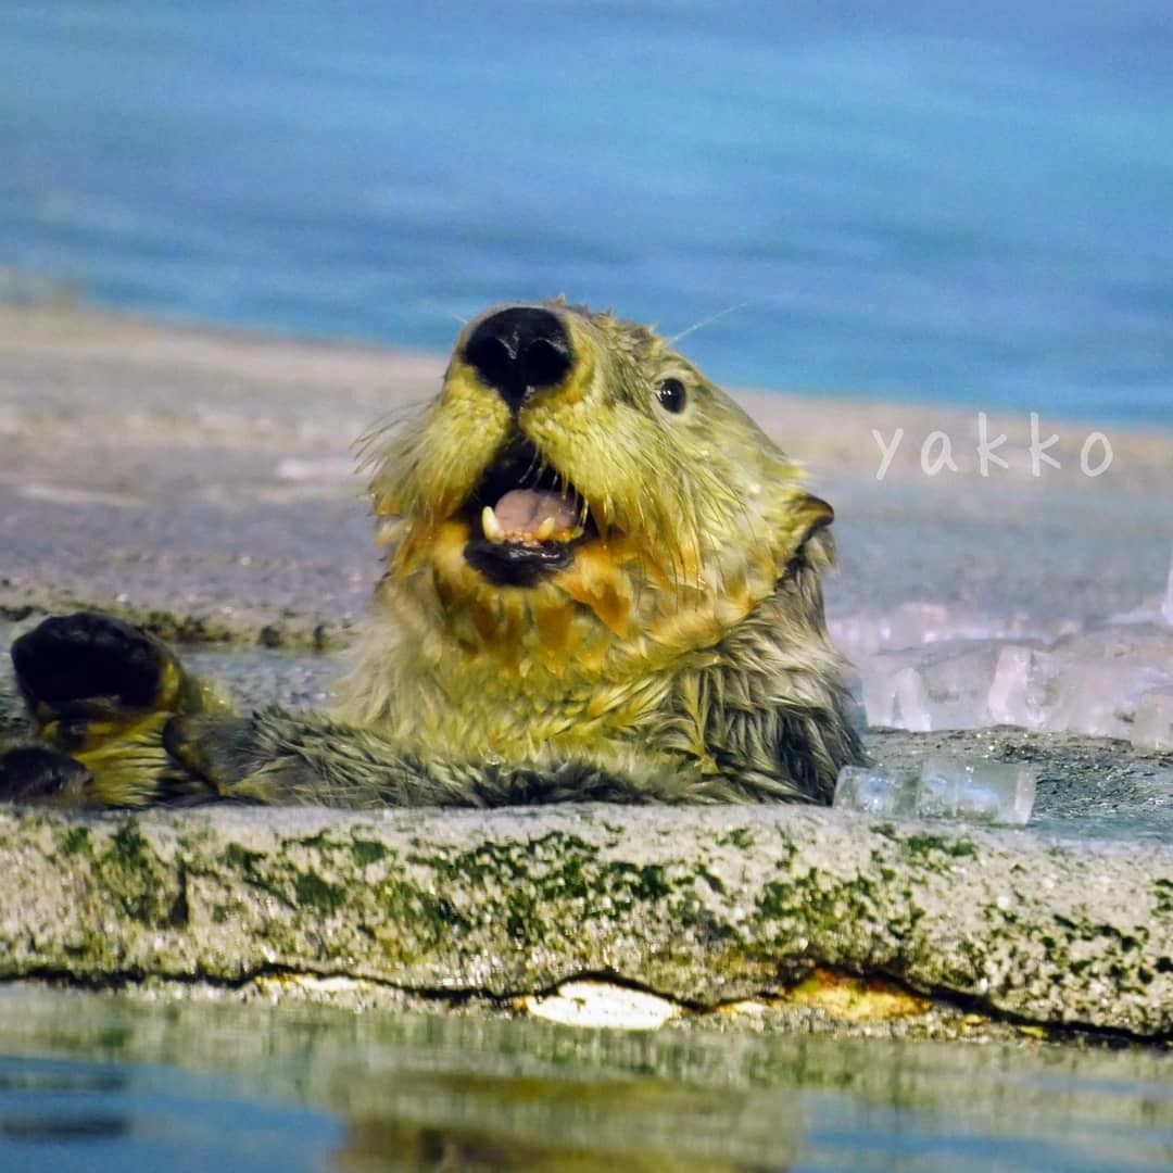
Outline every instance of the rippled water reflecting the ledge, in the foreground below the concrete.
[(0, 995), (20, 1169), (1167, 1168), (1152, 1051)]

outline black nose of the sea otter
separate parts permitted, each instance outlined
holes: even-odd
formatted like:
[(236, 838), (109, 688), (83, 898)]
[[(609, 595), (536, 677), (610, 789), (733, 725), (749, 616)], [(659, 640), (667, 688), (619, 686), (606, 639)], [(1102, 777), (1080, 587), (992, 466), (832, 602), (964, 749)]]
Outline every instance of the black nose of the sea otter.
[(574, 361), (570, 339), (549, 310), (515, 306), (486, 318), (465, 345), (465, 361), (509, 405), (561, 382)]

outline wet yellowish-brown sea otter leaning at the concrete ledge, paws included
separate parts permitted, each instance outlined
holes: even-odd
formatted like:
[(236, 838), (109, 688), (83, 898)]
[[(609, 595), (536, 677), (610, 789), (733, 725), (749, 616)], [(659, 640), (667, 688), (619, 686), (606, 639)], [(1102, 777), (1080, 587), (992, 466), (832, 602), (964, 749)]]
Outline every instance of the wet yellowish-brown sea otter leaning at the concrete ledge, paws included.
[(235, 716), (144, 632), (50, 618), (12, 649), (39, 740), (0, 793), (827, 802), (862, 759), (823, 619), (832, 509), (653, 330), (488, 310), (362, 450), (386, 570), (328, 713)]

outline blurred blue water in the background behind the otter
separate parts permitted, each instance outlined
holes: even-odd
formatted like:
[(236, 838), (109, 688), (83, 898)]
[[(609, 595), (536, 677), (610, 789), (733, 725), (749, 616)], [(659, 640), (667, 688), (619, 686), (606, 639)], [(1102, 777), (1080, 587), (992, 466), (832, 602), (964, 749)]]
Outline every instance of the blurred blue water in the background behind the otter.
[(0, 8), (0, 265), (155, 313), (1169, 423), (1171, 224), (1167, 0)]

